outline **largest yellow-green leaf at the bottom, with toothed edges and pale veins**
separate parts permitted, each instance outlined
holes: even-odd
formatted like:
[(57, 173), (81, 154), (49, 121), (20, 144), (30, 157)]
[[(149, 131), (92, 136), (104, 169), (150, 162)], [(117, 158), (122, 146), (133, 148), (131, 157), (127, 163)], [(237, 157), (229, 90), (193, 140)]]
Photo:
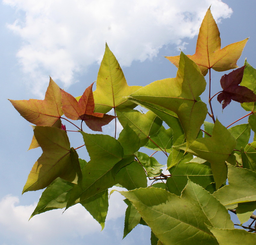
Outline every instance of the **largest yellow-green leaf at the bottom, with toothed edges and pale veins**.
[(218, 244), (206, 225), (233, 228), (226, 208), (191, 181), (181, 197), (154, 187), (120, 193), (132, 202), (166, 245)]

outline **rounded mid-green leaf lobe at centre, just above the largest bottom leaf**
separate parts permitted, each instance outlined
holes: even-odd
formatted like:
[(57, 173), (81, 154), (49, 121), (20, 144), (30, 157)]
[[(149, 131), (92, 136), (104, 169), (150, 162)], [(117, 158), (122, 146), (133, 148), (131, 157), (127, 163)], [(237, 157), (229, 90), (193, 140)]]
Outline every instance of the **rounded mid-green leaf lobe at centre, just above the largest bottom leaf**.
[(127, 190), (147, 187), (147, 176), (143, 167), (136, 161), (121, 168), (116, 176), (115, 181)]

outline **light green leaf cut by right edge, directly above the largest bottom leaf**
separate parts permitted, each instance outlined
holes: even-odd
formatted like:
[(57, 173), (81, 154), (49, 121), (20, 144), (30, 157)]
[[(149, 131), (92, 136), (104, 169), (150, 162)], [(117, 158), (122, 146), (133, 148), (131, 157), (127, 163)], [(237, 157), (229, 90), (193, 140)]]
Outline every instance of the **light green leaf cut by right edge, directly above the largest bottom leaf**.
[(255, 172), (228, 164), (228, 181), (229, 185), (223, 186), (213, 194), (224, 206), (256, 201)]

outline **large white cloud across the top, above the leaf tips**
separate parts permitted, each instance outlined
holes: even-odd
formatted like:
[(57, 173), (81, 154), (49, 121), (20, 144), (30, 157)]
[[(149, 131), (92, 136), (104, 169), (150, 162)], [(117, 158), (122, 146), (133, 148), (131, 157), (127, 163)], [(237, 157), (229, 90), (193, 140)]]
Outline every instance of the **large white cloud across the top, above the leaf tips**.
[(220, 0), (3, 0), (16, 10), (8, 28), (22, 38), (17, 53), (33, 92), (41, 94), (48, 75), (64, 87), (77, 72), (100, 62), (105, 41), (122, 66), (157, 56), (161, 47), (185, 47), (211, 5), (215, 20), (232, 10)]

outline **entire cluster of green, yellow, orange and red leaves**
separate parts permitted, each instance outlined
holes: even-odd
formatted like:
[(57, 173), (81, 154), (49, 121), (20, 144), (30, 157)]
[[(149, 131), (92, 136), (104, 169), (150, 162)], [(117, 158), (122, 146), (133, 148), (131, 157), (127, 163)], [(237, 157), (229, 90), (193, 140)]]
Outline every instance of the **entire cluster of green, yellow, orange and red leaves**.
[[(251, 130), (256, 132), (256, 70), (245, 61), (221, 78), (220, 92), (211, 96), (209, 90), (208, 105), (201, 101), (208, 71), (211, 89), (211, 70), (237, 68), (247, 39), (222, 49), (220, 41), (209, 8), (195, 54), (166, 57), (178, 67), (174, 78), (128, 86), (106, 44), (95, 91), (92, 83), (75, 98), (50, 78), (44, 100), (10, 100), (35, 125), (30, 149), (43, 151), (23, 188), (23, 193), (44, 189), (31, 218), (80, 203), (103, 229), (108, 190), (120, 186), (127, 204), (123, 237), (141, 224), (151, 228), (152, 245), (253, 243), (256, 141), (249, 141)], [(226, 127), (215, 119), (216, 95), (223, 109), (232, 100), (241, 103), (249, 111), (248, 123), (228, 129), (233, 123)], [(148, 111), (136, 110), (138, 105)], [(106, 114), (110, 110), (114, 115)], [(212, 122), (205, 121), (207, 115)], [(84, 129), (102, 132), (113, 119), (114, 137)], [(117, 120), (123, 127), (118, 138)], [(84, 145), (74, 148), (68, 135), (77, 132)], [(77, 153), (85, 148), (89, 161)], [(150, 156), (145, 148), (152, 150)], [(159, 163), (155, 153), (166, 162)], [(229, 210), (244, 230), (234, 228)], [(250, 218), (251, 224), (243, 225)]]

